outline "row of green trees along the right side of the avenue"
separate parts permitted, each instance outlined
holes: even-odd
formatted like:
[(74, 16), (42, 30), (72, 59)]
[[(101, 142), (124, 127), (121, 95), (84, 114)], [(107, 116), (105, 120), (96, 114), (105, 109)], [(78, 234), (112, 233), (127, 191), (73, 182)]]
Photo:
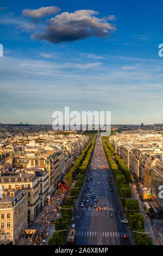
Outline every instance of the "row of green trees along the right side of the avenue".
[[(142, 216), (139, 212), (139, 201), (130, 199), (131, 189), (128, 184), (129, 182), (133, 182), (133, 176), (129, 172), (124, 160), (120, 159), (117, 155), (115, 156), (115, 161), (112, 159), (112, 156), (115, 155), (115, 152), (112, 145), (109, 144), (108, 138), (102, 138), (102, 142), (106, 158), (108, 160), (118, 193), (121, 198), (122, 205), (126, 206), (126, 214), (130, 230), (132, 232), (145, 232), (145, 217)], [(147, 234), (136, 232), (133, 232), (135, 245), (153, 245), (151, 237), (149, 237)]]

